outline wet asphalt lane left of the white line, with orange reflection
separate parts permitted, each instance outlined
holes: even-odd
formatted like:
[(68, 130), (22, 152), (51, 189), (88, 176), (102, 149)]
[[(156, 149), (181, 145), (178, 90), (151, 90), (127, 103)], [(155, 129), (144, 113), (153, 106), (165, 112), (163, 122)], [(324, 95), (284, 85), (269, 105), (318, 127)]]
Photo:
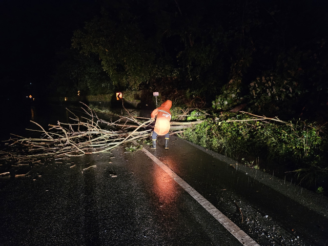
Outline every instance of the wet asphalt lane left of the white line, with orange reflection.
[(144, 153), (124, 150), (1, 178), (0, 244), (240, 245)]

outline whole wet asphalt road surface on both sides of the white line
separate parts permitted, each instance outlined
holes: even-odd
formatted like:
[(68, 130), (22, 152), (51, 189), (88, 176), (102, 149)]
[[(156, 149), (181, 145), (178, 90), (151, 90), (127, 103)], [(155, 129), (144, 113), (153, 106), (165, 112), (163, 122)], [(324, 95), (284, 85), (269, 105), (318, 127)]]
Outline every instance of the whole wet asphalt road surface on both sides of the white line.
[[(259, 245), (328, 245), (326, 197), (175, 136), (158, 146), (145, 148)], [(0, 245), (242, 245), (142, 151), (20, 172), (0, 177)]]

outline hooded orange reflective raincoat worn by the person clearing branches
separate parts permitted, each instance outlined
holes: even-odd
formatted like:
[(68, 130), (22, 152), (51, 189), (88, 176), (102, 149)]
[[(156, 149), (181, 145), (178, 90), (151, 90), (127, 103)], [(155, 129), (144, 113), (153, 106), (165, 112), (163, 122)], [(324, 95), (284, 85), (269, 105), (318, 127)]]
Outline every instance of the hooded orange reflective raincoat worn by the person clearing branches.
[(172, 101), (166, 100), (151, 113), (152, 119), (157, 115), (154, 131), (160, 136), (167, 134), (170, 130), (171, 107)]

